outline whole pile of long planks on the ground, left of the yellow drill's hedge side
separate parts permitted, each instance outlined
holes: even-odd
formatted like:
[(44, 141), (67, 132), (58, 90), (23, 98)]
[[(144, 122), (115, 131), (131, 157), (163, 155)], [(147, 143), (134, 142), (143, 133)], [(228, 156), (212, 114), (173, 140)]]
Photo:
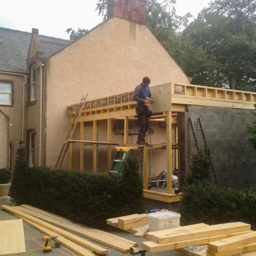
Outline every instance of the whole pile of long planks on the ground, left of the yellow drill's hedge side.
[[(129, 253), (130, 247), (138, 245), (137, 242), (115, 236), (114, 234), (99, 229), (77, 224), (67, 218), (31, 207), (30, 205), (20, 205), (19, 207), (1, 205), (1, 207), (18, 218), (22, 218), (28, 224), (40, 230), (43, 234), (46, 234), (47, 236), (58, 236), (55, 241), (60, 242), (63, 246), (78, 255), (92, 256), (95, 255), (94, 253), (109, 253), (109, 250), (89, 242), (80, 236), (89, 238), (102, 245), (112, 247), (123, 253)], [(77, 236), (77, 234), (80, 236)]]

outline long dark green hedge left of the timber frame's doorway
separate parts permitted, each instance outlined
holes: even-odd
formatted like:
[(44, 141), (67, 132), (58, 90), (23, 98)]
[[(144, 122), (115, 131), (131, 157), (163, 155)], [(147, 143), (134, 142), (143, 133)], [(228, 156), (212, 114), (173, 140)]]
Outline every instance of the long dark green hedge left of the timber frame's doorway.
[(144, 212), (143, 184), (138, 168), (138, 160), (129, 158), (122, 177), (118, 178), (16, 166), (10, 196), (17, 204), (30, 204), (99, 227), (105, 225), (107, 218)]

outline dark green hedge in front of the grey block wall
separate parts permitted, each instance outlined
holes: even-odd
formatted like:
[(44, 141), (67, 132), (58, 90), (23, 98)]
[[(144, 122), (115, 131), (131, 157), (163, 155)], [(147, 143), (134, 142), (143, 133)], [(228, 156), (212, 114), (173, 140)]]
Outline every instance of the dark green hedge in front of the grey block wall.
[(207, 181), (187, 184), (179, 203), (181, 224), (242, 221), (256, 228), (256, 193), (251, 189), (218, 188)]

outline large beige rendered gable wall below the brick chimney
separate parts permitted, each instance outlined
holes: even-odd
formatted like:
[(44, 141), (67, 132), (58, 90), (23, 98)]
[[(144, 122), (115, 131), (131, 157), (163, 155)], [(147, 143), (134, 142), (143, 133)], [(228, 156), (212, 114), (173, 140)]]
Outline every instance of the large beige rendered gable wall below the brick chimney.
[[(68, 133), (67, 105), (188, 77), (146, 26), (112, 18), (48, 59), (46, 165), (53, 166)], [(67, 167), (67, 158), (64, 160)]]

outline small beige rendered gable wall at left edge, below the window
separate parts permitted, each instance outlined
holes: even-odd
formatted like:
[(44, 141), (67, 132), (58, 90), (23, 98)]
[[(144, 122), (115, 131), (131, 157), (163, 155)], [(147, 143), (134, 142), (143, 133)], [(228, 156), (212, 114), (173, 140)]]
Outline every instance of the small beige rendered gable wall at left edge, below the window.
[(0, 168), (8, 167), (9, 118), (0, 110)]

